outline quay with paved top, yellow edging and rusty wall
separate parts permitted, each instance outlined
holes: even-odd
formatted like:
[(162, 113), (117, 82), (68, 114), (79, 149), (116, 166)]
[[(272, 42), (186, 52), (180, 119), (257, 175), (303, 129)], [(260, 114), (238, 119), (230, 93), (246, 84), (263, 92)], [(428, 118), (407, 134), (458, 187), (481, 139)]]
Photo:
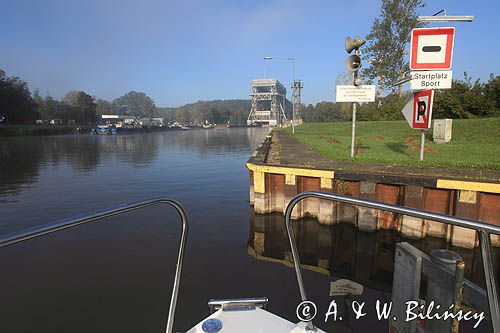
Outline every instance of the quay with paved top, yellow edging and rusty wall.
[[(283, 131), (274, 130), (247, 162), (250, 203), (256, 213), (283, 213), (304, 191), (324, 191), (456, 215), (500, 225), (500, 172), (419, 168), (328, 160)], [(306, 199), (294, 218), (351, 223), (362, 231), (393, 229), (411, 238), (433, 236), (473, 248), (473, 230), (364, 207)], [(500, 237), (493, 236), (494, 246)]]

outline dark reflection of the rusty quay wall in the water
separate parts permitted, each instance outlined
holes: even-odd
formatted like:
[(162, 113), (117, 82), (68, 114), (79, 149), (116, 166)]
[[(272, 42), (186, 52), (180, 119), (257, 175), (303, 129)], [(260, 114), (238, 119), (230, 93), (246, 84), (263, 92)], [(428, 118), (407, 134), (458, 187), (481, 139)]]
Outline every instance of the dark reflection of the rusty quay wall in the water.
[[(320, 225), (317, 220), (304, 218), (292, 223), (296, 235), (301, 264), (305, 269), (347, 278), (380, 291), (392, 290), (395, 244), (407, 241), (430, 253), (434, 249), (449, 248), (465, 261), (465, 275), (484, 288), (481, 254), (474, 250), (449, 246), (445, 240), (427, 237), (407, 240), (393, 230), (362, 232), (352, 224)], [(292, 265), (292, 256), (281, 214), (255, 214), (250, 216), (248, 254), (265, 261)], [(496, 276), (500, 251), (494, 248)]]

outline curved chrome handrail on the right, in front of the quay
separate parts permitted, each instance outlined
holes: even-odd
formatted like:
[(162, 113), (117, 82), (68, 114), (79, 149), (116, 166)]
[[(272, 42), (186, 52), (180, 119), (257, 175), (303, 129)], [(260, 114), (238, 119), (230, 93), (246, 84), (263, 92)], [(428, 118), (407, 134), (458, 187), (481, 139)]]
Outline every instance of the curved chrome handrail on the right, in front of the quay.
[[(300, 259), (297, 251), (297, 244), (293, 237), (293, 232), (290, 227), (290, 220), (292, 216), (292, 211), (295, 205), (306, 198), (318, 198), (326, 199), (330, 201), (337, 201), (346, 204), (358, 205), (368, 208), (385, 210), (393, 213), (404, 214), (408, 216), (413, 216), (417, 218), (433, 220), (441, 223), (452, 224), (454, 226), (474, 229), (479, 233), (479, 241), (481, 245), (481, 256), (483, 258), (484, 274), (486, 278), (486, 289), (488, 295), (488, 303), (490, 308), (491, 323), (493, 326), (493, 331), (495, 333), (500, 333), (500, 305), (498, 303), (498, 288), (493, 271), (493, 261), (491, 253), (491, 241), (490, 233), (500, 235), (500, 226), (493, 225), (489, 223), (469, 220), (461, 217), (450, 216), (445, 214), (433, 213), (429, 211), (391, 205), (381, 202), (376, 202), (372, 200), (365, 200), (359, 198), (352, 198), (338, 194), (324, 193), (318, 191), (308, 191), (297, 194), (292, 198), (285, 211), (285, 227), (288, 234), (288, 240), (290, 242), (290, 248), (292, 250), (293, 264), (295, 267), (295, 273), (297, 275), (297, 283), (299, 284), (300, 297), (302, 301), (307, 300), (306, 291), (304, 289), (304, 282), (302, 280), (302, 273), (300, 270)], [(307, 322), (308, 329), (314, 330), (314, 325), (312, 321)]]

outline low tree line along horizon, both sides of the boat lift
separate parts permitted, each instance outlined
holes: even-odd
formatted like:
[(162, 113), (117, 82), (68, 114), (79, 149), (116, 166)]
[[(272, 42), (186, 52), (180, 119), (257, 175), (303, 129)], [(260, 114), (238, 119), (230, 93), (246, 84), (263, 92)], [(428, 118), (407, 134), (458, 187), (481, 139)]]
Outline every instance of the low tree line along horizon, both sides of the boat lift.
[[(376, 98), (375, 103), (360, 104), (359, 120), (399, 120), (408, 93), (393, 91)], [(161, 117), (182, 124), (245, 125), (250, 111), (248, 99), (198, 101), (180, 107), (157, 107), (143, 92), (131, 91), (113, 101), (96, 99), (84, 91), (70, 91), (57, 100), (50, 95), (30, 93), (27, 83), (8, 77), (0, 70), (0, 117), (4, 123), (33, 124), (36, 119), (61, 119), (63, 123), (93, 124), (103, 114), (129, 115), (141, 118)], [(287, 107), (288, 111), (291, 106)], [(350, 103), (320, 102), (301, 107), (305, 122), (347, 121), (351, 119)], [(463, 80), (453, 80), (452, 88), (436, 90), (433, 118), (474, 118), (500, 116), (500, 77), (490, 75), (487, 82), (464, 73)], [(289, 115), (290, 116), (290, 115)]]

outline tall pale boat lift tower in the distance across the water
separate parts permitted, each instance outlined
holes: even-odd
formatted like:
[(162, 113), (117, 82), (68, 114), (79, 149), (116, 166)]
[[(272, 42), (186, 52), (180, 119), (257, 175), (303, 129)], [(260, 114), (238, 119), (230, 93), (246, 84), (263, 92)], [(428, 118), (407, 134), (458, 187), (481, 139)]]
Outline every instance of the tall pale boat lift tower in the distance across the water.
[(286, 88), (276, 79), (252, 80), (249, 126), (279, 126), (286, 122)]

